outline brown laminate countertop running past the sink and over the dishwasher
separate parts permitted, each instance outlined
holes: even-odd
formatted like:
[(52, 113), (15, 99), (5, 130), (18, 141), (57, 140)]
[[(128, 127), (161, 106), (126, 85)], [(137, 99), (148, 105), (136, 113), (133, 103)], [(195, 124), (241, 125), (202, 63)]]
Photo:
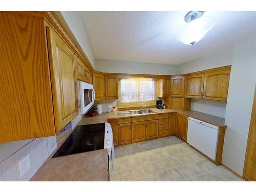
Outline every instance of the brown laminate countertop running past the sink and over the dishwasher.
[[(93, 123), (103, 123), (106, 122), (107, 119), (117, 119), (117, 118), (125, 118), (125, 117), (135, 117), (135, 116), (143, 116), (143, 115), (153, 115), (153, 114), (161, 114), (161, 113), (178, 113), (178, 114), (183, 114), (188, 117), (192, 117), (210, 124), (214, 124), (219, 127), (226, 127), (224, 124), (225, 119), (221, 117), (217, 117), (214, 115), (209, 115), (206, 113), (198, 112), (198, 111), (182, 111), (182, 110), (172, 110), (172, 109), (162, 109), (159, 110), (157, 108), (151, 108), (153, 111), (156, 113), (151, 113), (151, 114), (138, 114), (138, 115), (121, 115), (118, 116), (117, 113), (102, 113), (100, 115), (96, 115), (94, 117), (87, 117), (84, 116), (79, 122), (78, 125), (84, 125), (84, 124), (93, 124)], [(124, 112), (124, 111), (122, 111)]]

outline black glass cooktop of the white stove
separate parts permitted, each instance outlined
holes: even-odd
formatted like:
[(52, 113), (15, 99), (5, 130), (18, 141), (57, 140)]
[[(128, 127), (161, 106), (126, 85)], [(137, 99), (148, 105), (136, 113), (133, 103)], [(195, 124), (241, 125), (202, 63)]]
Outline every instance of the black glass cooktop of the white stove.
[(52, 158), (101, 150), (104, 148), (104, 134), (105, 123), (79, 125)]

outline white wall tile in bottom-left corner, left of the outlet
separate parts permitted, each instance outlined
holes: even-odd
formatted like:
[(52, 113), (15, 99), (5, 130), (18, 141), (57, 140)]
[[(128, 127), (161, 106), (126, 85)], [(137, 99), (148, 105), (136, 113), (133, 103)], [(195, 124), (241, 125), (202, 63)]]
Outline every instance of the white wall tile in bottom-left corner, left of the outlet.
[(11, 155), (2, 163), (2, 172), (3, 172), (3, 179), (4, 181), (18, 181), (18, 172), (17, 166), (15, 161), (15, 155)]

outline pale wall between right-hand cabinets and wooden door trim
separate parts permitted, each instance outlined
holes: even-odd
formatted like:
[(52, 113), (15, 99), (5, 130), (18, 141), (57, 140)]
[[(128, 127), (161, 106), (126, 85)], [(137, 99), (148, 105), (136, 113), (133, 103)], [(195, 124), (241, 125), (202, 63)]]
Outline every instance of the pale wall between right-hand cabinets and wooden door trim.
[(256, 81), (256, 36), (234, 46), (225, 124), (223, 164), (243, 174)]

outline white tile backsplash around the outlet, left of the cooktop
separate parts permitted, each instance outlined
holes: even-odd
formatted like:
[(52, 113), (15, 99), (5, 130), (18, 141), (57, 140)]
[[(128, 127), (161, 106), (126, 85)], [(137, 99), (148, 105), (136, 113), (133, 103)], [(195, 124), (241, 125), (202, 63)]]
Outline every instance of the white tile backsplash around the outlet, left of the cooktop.
[[(10, 149), (12, 145), (15, 145), (15, 142), (5, 143), (3, 147)], [(13, 151), (11, 155), (4, 153), (3, 150), (0, 154), (2, 156), (0, 181), (29, 181), (56, 148), (56, 136), (50, 136), (29, 140), (25, 145), (21, 145), (17, 151)], [(27, 155), (30, 156), (31, 167), (23, 177), (20, 177), (18, 163)], [(3, 158), (5, 159), (3, 160)]]

